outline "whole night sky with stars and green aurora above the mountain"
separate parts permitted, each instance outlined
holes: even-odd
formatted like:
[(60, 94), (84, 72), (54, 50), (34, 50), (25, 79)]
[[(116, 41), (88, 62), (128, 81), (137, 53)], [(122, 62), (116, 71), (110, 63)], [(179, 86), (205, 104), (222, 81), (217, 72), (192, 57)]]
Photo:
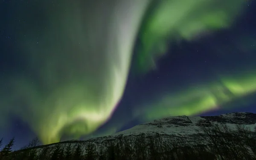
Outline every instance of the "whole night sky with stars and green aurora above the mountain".
[(2, 0), (0, 137), (15, 149), (256, 107), (252, 0)]

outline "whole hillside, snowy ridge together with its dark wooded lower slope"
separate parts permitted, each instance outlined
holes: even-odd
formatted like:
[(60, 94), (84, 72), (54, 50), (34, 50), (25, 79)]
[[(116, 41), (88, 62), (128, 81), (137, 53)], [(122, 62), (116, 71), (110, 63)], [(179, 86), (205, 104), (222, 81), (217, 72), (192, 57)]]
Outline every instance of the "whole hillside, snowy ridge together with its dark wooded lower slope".
[[(256, 114), (254, 113), (235, 112), (219, 116), (171, 116), (136, 125), (133, 128), (106, 137), (41, 145), (15, 153), (19, 155), (24, 151), (27, 154), (30, 151), (36, 151), (37, 155), (44, 154), (44, 160), (50, 160), (52, 154), (56, 152), (56, 148), (62, 151), (69, 148), (73, 154), (79, 148), (81, 149), (79, 154), (83, 155), (82, 157), (92, 160), (101, 159), (101, 157), (104, 157), (103, 159), (109, 159), (110, 157), (110, 159), (116, 160), (120, 158), (123, 160), (154, 158), (164, 160), (170, 158), (182, 159), (179, 158), (179, 154), (190, 153), (191, 149), (200, 147), (198, 151), (191, 152), (198, 154), (194, 155), (198, 160), (202, 156), (199, 154), (204, 151), (207, 157), (210, 154), (215, 154), (215, 157), (209, 156), (212, 157), (212, 160), (215, 160), (221, 159), (221, 154), (224, 154), (224, 151), (225, 154), (233, 155), (238, 154), (235, 153), (235, 149), (242, 151), (244, 148), (247, 150), (247, 154), (254, 156), (256, 143), (251, 143), (256, 142), (255, 127)], [(238, 137), (240, 137), (239, 140), (237, 140)], [(248, 139), (250, 139), (250, 144), (247, 144)], [(241, 145), (242, 142), (244, 142), (243, 145)], [(230, 146), (233, 148), (230, 148)], [(184, 147), (186, 151), (180, 150)], [(253, 147), (255, 147), (255, 152)], [(221, 152), (219, 149), (221, 149)], [(62, 154), (64, 155), (64, 152)], [(93, 154), (93, 158), (88, 158), (88, 154)], [(113, 155), (111, 156), (111, 154)], [(239, 153), (235, 157), (233, 155), (230, 159), (239, 160), (241, 156), (245, 157), (242, 154), (244, 153)], [(183, 159), (186, 159), (184, 155), (182, 156)], [(202, 159), (204, 158), (202, 157)], [(189, 159), (193, 159), (191, 155)], [(250, 157), (245, 159), (250, 160)], [(36, 160), (39, 160), (39, 156)]]

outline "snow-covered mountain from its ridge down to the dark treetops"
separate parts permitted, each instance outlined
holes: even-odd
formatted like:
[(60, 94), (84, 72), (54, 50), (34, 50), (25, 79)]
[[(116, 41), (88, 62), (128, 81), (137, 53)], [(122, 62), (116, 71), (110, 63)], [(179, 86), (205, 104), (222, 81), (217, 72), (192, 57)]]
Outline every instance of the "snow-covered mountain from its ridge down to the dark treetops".
[[(196, 143), (200, 131), (199, 126), (209, 127), (213, 124), (225, 124), (231, 129), (236, 129), (236, 125), (244, 125), (250, 130), (256, 127), (256, 114), (248, 112), (227, 113), (219, 116), (171, 116), (163, 119), (154, 120), (153, 122), (136, 125), (125, 131), (115, 134), (90, 138), (84, 141), (70, 140), (50, 145), (41, 145), (36, 147), (39, 152), (44, 148), (55, 148), (61, 145), (66, 148), (68, 144), (72, 144), (73, 148), (81, 145), (82, 152), (86, 153), (87, 145), (93, 144), (96, 152), (106, 150), (110, 145), (125, 145), (124, 143), (136, 148), (138, 140), (141, 142), (154, 141), (156, 148), (162, 148), (163, 145), (172, 143), (189, 144)], [(197, 142), (198, 143), (198, 142)]]

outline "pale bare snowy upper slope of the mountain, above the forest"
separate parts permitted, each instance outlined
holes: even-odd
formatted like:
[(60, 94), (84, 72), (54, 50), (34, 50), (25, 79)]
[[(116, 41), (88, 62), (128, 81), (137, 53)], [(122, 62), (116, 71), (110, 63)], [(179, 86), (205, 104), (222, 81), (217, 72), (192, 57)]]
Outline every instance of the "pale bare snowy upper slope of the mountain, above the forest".
[(145, 134), (151, 136), (190, 137), (198, 134), (200, 125), (210, 126), (214, 123), (226, 124), (235, 129), (237, 124), (245, 125), (251, 130), (256, 126), (256, 114), (249, 112), (234, 112), (219, 116), (171, 116), (153, 122), (136, 125), (125, 131), (117, 132), (107, 137), (89, 139), (95, 143), (104, 143), (118, 137), (138, 137)]

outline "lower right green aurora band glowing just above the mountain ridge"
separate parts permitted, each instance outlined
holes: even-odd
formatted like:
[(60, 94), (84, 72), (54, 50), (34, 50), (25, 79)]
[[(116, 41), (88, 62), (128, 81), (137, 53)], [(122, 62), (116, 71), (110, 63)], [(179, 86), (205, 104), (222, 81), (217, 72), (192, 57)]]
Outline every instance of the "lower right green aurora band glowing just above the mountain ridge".
[(194, 87), (188, 87), (186, 90), (164, 94), (150, 104), (143, 104), (139, 110), (134, 112), (134, 117), (143, 114), (146, 115), (143, 119), (149, 121), (166, 116), (181, 114), (191, 116), (216, 110), (236, 99), (256, 93), (255, 81), (255, 71), (233, 77), (222, 75), (221, 82), (212, 81), (204, 85), (195, 84)]

